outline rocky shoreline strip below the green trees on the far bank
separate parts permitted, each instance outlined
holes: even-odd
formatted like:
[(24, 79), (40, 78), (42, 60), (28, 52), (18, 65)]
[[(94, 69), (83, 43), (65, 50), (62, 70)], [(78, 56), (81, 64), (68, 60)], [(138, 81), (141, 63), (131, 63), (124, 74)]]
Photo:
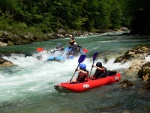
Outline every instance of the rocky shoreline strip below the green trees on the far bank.
[(31, 34), (31, 33), (20, 33), (13, 34), (7, 31), (0, 31), (0, 46), (12, 46), (12, 45), (21, 45), (21, 44), (31, 44), (32, 42), (40, 42), (40, 41), (48, 41), (52, 39), (58, 38), (66, 38), (69, 37), (70, 34), (74, 36), (82, 36), (82, 35), (99, 35), (101, 33), (109, 33), (109, 32), (123, 32), (129, 31), (128, 28), (122, 27), (118, 30), (105, 30), (99, 31), (96, 33), (87, 32), (87, 31), (73, 31), (67, 32), (64, 29), (59, 29), (57, 33), (49, 33), (49, 34)]

